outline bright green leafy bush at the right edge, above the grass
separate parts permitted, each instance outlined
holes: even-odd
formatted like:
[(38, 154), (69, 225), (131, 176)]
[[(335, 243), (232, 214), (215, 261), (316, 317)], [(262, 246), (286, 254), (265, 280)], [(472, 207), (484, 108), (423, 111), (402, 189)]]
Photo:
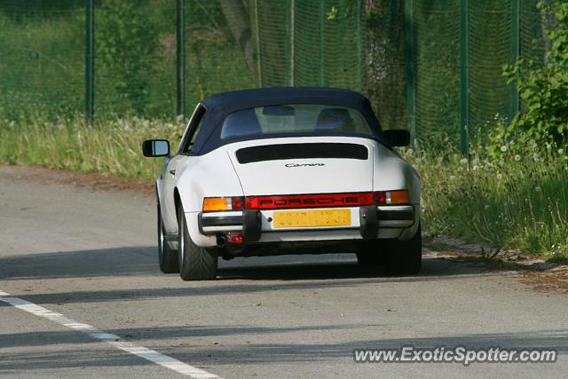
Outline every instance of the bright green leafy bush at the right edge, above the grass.
[(539, 145), (568, 143), (568, 3), (551, 6), (540, 3), (541, 12), (553, 12), (556, 27), (548, 32), (550, 51), (543, 66), (519, 59), (514, 66), (504, 67), (509, 83), (517, 86), (524, 105), (509, 127), (501, 128), (501, 141), (517, 138)]

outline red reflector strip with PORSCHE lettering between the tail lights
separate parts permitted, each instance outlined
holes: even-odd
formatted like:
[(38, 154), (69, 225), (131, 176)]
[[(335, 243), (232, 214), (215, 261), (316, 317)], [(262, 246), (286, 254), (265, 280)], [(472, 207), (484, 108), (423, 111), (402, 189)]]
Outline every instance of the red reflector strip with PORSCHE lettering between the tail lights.
[(247, 196), (245, 209), (359, 207), (373, 205), (373, 193), (321, 193)]

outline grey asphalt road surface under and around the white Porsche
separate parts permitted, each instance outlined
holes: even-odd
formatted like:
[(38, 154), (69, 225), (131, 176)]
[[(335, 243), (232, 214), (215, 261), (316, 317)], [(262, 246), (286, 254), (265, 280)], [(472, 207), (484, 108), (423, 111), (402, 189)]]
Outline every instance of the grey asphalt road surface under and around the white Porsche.
[[(568, 373), (568, 297), (536, 293), (507, 272), (430, 253), (421, 275), (387, 277), (350, 255), (288, 256), (234, 259), (217, 280), (184, 282), (159, 272), (153, 197), (32, 171), (0, 166), (0, 291), (12, 298), (0, 301), (0, 375), (181, 377), (50, 320), (59, 316), (14, 306), (21, 300), (162, 354), (154, 360), (225, 378)], [(354, 348), (411, 344), (560, 354), (556, 363), (468, 367), (352, 359)]]

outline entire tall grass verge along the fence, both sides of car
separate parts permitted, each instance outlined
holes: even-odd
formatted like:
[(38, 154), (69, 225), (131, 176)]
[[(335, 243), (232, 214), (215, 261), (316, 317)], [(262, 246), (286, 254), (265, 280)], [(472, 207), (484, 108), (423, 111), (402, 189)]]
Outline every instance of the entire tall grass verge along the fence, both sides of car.
[[(155, 178), (162, 160), (141, 154), (146, 138), (177, 144), (183, 126), (109, 118), (87, 126), (80, 117), (0, 122), (0, 162)], [(176, 146), (172, 146), (174, 149)], [(553, 146), (526, 146), (499, 156), (474, 147), (468, 161), (449, 146), (402, 151), (422, 178), (422, 223), (430, 233), (568, 258), (568, 157)], [(491, 157), (490, 157), (491, 156)]]

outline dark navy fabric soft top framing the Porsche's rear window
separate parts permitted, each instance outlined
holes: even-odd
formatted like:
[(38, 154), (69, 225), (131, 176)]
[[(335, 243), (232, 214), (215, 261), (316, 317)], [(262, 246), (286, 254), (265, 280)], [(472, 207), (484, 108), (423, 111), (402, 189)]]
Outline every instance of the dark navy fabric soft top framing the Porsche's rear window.
[[(228, 142), (221, 141), (217, 136), (228, 114), (242, 109), (283, 104), (325, 104), (351, 107), (358, 110), (365, 118), (375, 137), (387, 144), (369, 100), (356, 91), (320, 87), (259, 88), (217, 93), (203, 99), (201, 104), (207, 109), (207, 113), (193, 144), (192, 154), (206, 154)], [(288, 134), (289, 136), (291, 135)], [(279, 136), (274, 135), (273, 137)]]

